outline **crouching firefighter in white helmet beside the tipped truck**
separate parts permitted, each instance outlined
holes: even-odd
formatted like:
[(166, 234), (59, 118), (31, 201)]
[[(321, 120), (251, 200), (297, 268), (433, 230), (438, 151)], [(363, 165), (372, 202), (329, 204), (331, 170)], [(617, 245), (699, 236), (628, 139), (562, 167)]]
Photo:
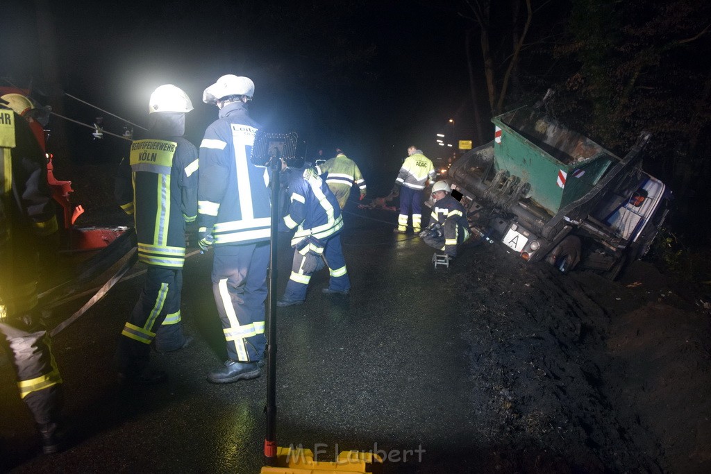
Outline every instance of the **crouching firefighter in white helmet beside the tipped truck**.
[(469, 239), (469, 222), (464, 206), (449, 195), (451, 188), (447, 181), (437, 181), (432, 185), (432, 215), (429, 226), (419, 235), (424, 243), (444, 252), (450, 258), (456, 257), (456, 246)]

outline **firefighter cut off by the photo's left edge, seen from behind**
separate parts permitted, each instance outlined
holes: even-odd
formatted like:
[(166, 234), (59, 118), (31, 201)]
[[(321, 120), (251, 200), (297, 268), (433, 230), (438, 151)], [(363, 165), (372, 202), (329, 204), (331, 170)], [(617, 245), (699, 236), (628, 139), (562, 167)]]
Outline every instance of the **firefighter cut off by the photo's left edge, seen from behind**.
[[(0, 102), (0, 332), (20, 397), (42, 436), (44, 453), (56, 436), (61, 383), (37, 302), (38, 252), (58, 230), (46, 159), (25, 120)], [(43, 248), (43, 246), (45, 246)]]

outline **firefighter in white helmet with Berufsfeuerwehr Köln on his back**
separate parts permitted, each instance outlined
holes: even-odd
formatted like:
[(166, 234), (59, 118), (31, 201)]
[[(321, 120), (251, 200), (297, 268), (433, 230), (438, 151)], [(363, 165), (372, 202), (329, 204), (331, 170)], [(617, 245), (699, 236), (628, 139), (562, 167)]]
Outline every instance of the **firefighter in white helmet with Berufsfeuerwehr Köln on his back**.
[(198, 214), (198, 151), (183, 138), (185, 115), (193, 104), (183, 90), (161, 85), (149, 99), (149, 139), (131, 144), (119, 166), (116, 197), (134, 215), (139, 261), (148, 266), (139, 301), (119, 338), (115, 361), (119, 380), (162, 382), (149, 370), (150, 344), (156, 351), (184, 348), (181, 291), (186, 224)]

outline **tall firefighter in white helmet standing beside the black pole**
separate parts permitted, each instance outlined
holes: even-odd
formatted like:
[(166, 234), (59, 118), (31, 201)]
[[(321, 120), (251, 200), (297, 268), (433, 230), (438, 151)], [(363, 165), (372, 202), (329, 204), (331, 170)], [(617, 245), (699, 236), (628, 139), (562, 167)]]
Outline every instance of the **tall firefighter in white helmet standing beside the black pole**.
[(200, 145), (198, 244), (213, 249), (213, 294), (228, 360), (208, 373), (216, 384), (260, 376), (271, 230), (269, 172), (250, 160), (259, 124), (249, 114), (255, 85), (224, 75), (203, 93), (218, 120)]

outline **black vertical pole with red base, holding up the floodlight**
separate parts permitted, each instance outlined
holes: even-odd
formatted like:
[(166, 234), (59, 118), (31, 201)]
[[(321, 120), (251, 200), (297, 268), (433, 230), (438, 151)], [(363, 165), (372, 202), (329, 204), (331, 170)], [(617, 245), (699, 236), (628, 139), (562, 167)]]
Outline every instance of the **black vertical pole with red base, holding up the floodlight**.
[(267, 296), (267, 436), (264, 458), (277, 460), (277, 242), (279, 232), (279, 174), (282, 160), (272, 158), (272, 237), (269, 239), (269, 293)]

